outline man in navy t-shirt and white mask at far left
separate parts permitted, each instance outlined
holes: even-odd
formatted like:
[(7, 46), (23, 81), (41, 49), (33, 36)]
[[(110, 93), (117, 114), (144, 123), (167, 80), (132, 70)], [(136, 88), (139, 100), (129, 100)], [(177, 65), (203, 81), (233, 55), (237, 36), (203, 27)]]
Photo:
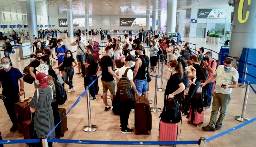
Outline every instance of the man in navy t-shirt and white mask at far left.
[(12, 132), (18, 129), (14, 104), (19, 102), (19, 95), (24, 94), (23, 74), (19, 69), (10, 66), (9, 58), (3, 57), (1, 62), (3, 69), (0, 70), (0, 88), (2, 87), (2, 95), (6, 97), (3, 103), (13, 123), (10, 129)]

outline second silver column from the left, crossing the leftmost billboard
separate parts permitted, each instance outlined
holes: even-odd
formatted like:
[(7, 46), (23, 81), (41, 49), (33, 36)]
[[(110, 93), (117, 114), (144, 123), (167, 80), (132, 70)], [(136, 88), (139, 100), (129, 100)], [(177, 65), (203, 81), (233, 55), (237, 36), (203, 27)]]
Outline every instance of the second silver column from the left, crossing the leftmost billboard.
[(68, 18), (68, 32), (70, 37), (74, 36), (73, 33), (73, 8), (72, 8), (72, 0), (67, 1), (67, 18)]

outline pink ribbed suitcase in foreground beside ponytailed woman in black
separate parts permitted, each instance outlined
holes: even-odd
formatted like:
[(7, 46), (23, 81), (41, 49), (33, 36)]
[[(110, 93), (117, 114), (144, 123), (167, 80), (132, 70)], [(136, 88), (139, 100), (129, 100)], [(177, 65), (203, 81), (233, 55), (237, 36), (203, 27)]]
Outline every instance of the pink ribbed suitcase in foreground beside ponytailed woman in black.
[[(160, 121), (159, 141), (176, 141), (178, 136), (178, 123), (166, 123)], [(176, 145), (173, 145), (176, 146)]]

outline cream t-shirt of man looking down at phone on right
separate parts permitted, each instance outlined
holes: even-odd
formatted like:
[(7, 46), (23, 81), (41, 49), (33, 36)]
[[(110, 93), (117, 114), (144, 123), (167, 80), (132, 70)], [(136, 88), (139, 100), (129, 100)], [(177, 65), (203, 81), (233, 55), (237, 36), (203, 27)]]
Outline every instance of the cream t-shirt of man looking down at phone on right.
[(220, 65), (216, 71), (214, 72), (216, 77), (216, 87), (214, 89), (214, 92), (216, 93), (222, 93), (222, 94), (230, 94), (232, 92), (232, 88), (224, 89), (221, 87), (222, 84), (233, 84), (233, 81), (238, 81), (239, 74), (238, 71), (231, 67), (230, 70), (225, 70), (224, 65)]

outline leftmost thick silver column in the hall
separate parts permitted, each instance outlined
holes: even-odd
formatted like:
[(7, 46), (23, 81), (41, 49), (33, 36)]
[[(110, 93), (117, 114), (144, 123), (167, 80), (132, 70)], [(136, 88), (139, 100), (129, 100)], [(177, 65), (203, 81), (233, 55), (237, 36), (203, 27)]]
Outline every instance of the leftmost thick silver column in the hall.
[(27, 9), (29, 40), (32, 42), (33, 35), (38, 37), (35, 0), (26, 0), (26, 9)]

